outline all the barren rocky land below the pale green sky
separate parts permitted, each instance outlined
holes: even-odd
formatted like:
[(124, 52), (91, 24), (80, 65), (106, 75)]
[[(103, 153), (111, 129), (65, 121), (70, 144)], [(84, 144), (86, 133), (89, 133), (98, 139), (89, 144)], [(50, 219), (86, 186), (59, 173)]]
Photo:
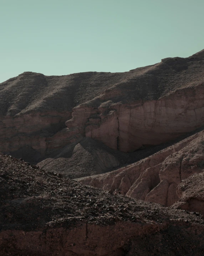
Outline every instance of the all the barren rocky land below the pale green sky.
[(0, 255), (201, 256), (204, 50), (11, 78), (0, 152)]

